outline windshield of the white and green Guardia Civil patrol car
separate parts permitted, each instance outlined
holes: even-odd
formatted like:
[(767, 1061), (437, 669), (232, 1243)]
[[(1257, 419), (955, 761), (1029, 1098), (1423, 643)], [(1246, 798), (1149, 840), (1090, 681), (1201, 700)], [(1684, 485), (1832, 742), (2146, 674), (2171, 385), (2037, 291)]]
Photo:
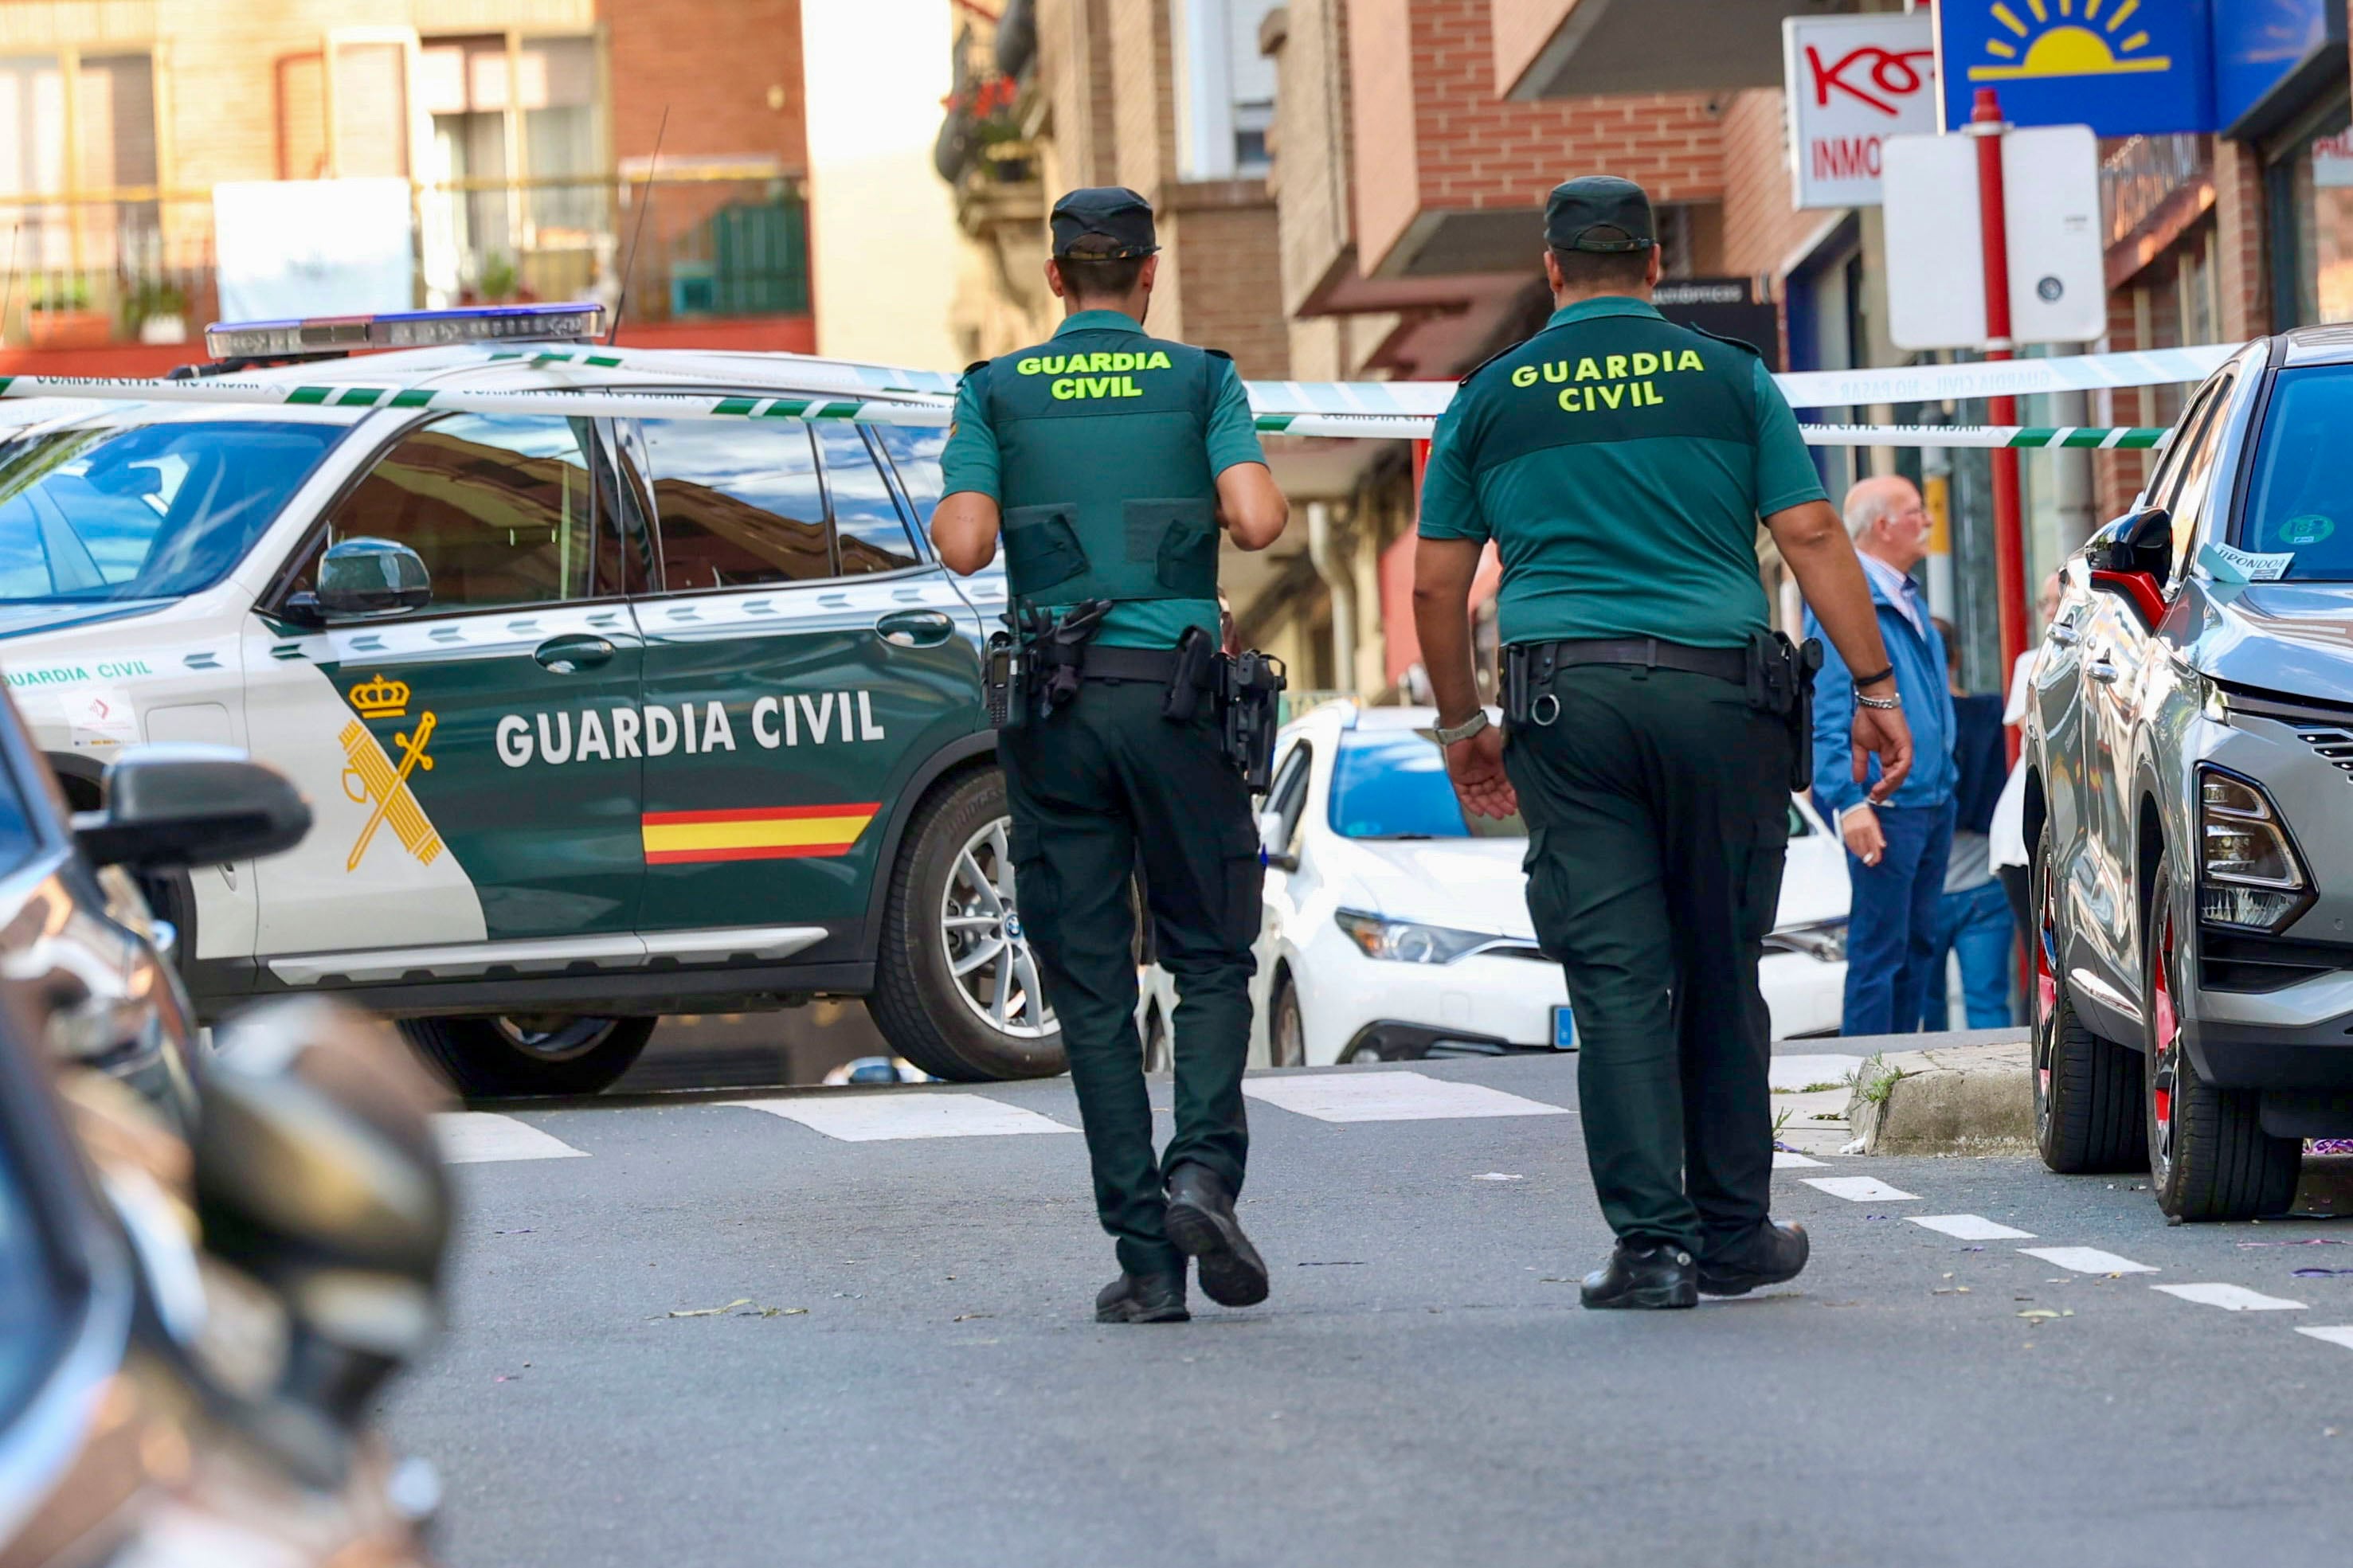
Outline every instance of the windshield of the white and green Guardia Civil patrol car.
[(344, 430), (224, 418), (0, 442), (0, 602), (101, 604), (212, 588)]

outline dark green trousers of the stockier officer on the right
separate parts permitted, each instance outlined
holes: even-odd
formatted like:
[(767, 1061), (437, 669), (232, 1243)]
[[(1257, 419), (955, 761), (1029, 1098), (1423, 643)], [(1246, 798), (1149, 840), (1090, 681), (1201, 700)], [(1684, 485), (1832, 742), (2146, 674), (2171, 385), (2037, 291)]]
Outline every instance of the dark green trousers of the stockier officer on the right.
[(1577, 1009), (1586, 1159), (1609, 1229), (1701, 1258), (1772, 1199), (1758, 957), (1781, 898), (1791, 736), (1741, 686), (1579, 665), (1504, 766), (1527, 907)]

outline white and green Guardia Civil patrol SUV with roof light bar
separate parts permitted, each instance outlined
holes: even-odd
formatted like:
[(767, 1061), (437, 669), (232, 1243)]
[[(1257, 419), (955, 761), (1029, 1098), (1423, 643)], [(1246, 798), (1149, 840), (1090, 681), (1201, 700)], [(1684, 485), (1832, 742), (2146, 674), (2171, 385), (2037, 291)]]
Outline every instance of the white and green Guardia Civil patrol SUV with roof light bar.
[(560, 346), (595, 331), (271, 322), (176, 386), (278, 402), (0, 402), (0, 668), (68, 792), (219, 741), (315, 809), (153, 889), (200, 1013), (336, 992), (482, 1095), (821, 994), (939, 1077), (1059, 1072), (984, 717), (1002, 578), (925, 531), (946, 430), (791, 416), (951, 381)]

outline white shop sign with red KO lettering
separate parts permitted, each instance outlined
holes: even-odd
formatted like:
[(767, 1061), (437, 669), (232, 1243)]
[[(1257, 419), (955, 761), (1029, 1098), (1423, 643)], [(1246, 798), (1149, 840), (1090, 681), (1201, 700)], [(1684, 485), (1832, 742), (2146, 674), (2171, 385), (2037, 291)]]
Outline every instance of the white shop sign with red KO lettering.
[(1934, 21), (1791, 16), (1781, 71), (1798, 207), (1878, 207), (1887, 136), (1937, 129)]

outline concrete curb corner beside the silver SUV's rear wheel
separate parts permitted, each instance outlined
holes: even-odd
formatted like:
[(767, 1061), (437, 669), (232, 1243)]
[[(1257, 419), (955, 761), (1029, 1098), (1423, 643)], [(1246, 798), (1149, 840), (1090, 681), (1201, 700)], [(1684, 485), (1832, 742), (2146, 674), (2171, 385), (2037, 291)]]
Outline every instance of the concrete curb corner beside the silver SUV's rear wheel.
[(2026, 1039), (1885, 1051), (1857, 1074), (1847, 1124), (1864, 1154), (2028, 1152), (2035, 1145), (2028, 1072)]

